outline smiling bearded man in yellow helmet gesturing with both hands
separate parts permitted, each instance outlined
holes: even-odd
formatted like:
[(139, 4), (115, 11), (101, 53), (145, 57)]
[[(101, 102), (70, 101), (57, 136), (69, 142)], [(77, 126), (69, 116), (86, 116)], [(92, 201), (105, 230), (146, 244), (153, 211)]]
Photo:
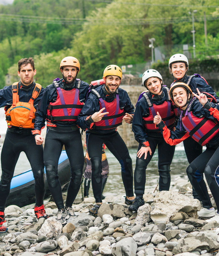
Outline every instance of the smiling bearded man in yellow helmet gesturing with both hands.
[(104, 84), (91, 90), (81, 113), (78, 115), (77, 124), (82, 129), (88, 129), (87, 150), (91, 160), (91, 182), (96, 201), (89, 212), (93, 215), (97, 215), (102, 204), (101, 156), (103, 143), (121, 164), (126, 192), (125, 203), (132, 204), (134, 201), (132, 159), (123, 139), (116, 131), (123, 119), (126, 123), (130, 123), (134, 115), (134, 106), (128, 93), (119, 88), (121, 78), (122, 70), (119, 66), (107, 66), (103, 73)]

